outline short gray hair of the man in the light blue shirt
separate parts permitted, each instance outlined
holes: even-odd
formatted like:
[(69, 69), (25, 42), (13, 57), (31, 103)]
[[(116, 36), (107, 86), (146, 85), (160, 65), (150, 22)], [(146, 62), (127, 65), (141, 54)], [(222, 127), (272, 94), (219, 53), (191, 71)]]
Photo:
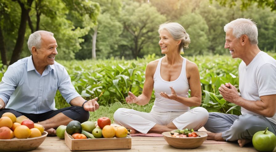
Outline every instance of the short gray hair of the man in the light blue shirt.
[(32, 33), (28, 40), (28, 48), (32, 54), (32, 47), (34, 46), (36, 49), (40, 49), (41, 47), (41, 33), (49, 34), (54, 36), (54, 33), (48, 31), (36, 31)]

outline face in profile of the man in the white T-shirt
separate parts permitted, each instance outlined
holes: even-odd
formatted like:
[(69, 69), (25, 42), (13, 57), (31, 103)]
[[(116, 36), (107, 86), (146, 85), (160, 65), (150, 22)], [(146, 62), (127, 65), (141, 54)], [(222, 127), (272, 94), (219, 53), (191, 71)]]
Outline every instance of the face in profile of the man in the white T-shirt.
[(228, 29), (225, 35), (224, 48), (228, 48), (232, 58), (238, 58), (241, 54), (240, 38), (233, 36), (233, 29)]

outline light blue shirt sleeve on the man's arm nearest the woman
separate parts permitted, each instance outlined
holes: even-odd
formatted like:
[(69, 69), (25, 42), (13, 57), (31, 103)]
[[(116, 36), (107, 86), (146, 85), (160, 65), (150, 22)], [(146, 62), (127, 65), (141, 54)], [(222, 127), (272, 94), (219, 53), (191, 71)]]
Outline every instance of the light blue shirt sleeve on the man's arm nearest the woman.
[(77, 93), (75, 87), (72, 85), (71, 78), (64, 67), (58, 89), (68, 104), (75, 97), (80, 97), (79, 93)]

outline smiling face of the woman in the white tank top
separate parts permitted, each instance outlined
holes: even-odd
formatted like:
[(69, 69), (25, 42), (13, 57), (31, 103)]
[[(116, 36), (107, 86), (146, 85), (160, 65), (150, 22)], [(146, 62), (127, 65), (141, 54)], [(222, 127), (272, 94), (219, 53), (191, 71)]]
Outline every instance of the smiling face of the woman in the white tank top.
[(163, 29), (159, 33), (159, 45), (161, 48), (161, 53), (166, 54), (168, 52), (176, 51), (178, 52), (178, 47), (181, 40), (175, 40), (173, 36), (168, 32), (168, 30)]

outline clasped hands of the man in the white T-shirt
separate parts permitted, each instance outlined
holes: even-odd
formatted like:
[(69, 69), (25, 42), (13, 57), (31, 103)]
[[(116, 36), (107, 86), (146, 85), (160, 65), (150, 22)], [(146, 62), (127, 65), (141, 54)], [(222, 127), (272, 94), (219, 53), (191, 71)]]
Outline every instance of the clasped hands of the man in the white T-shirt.
[(235, 101), (237, 101), (237, 99), (240, 97), (237, 88), (234, 87), (231, 83), (225, 83), (225, 85), (221, 84), (218, 90), (226, 101), (234, 104)]

